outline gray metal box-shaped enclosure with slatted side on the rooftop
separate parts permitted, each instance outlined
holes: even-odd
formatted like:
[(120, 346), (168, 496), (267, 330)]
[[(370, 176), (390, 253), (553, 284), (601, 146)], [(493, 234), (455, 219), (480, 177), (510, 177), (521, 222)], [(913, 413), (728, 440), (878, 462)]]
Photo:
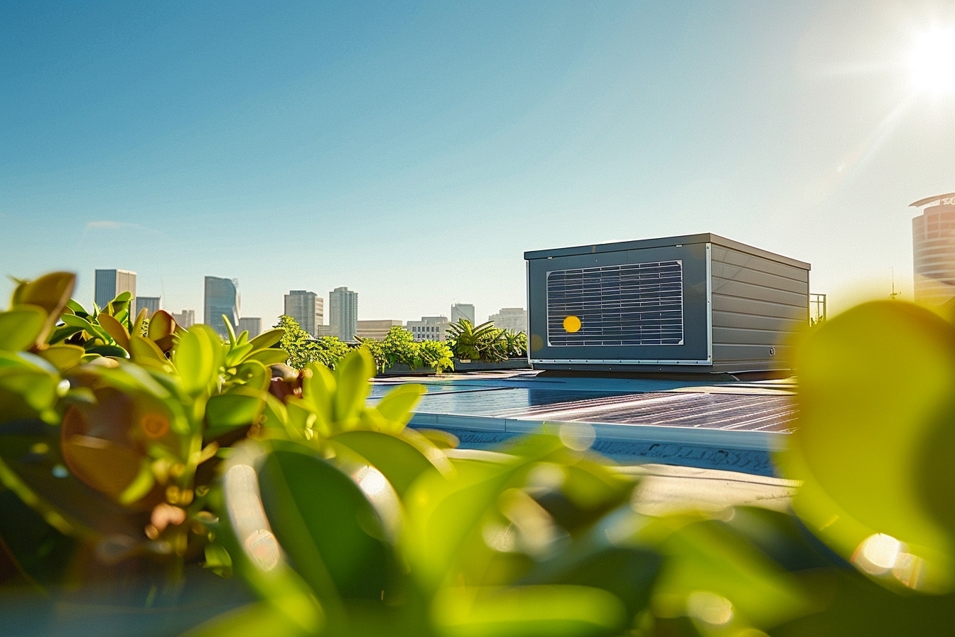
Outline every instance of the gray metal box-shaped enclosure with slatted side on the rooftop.
[(809, 264), (714, 234), (524, 259), (535, 369), (785, 370), (809, 322)]

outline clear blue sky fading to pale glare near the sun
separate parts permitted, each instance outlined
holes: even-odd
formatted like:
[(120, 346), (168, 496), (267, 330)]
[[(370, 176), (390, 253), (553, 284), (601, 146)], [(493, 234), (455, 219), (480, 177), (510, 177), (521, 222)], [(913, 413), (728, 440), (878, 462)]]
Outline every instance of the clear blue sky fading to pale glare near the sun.
[(0, 308), (116, 267), (197, 318), (213, 275), (265, 325), (340, 286), (481, 321), (526, 250), (697, 232), (832, 309), (911, 298), (907, 206), (955, 191), (955, 86), (912, 61), (945, 30), (952, 0), (3, 2)]

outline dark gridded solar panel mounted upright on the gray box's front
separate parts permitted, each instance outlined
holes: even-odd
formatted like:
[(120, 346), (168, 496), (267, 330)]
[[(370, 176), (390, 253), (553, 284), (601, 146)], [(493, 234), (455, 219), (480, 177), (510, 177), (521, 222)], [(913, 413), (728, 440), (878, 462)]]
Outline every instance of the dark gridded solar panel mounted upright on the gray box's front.
[(547, 342), (555, 347), (682, 345), (683, 262), (548, 272)]

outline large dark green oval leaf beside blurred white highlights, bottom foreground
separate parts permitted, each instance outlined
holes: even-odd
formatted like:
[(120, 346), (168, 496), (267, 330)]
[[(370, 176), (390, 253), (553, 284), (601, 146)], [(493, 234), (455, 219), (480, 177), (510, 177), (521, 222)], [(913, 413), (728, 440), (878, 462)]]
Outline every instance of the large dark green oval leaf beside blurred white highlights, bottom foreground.
[[(376, 495), (387, 496), (377, 476)], [(259, 481), (276, 538), (319, 599), (390, 597), (395, 563), (386, 524), (352, 478), (320, 457), (279, 449), (265, 458)]]

